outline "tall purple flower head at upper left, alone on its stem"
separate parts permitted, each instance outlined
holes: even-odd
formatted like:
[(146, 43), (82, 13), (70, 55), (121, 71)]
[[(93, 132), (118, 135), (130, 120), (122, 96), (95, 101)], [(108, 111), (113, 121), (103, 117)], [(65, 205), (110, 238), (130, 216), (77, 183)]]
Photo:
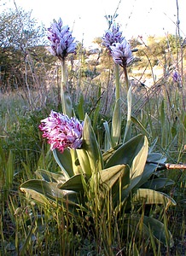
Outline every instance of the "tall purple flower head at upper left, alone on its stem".
[(48, 38), (51, 42), (50, 52), (60, 60), (65, 59), (69, 53), (74, 53), (77, 44), (74, 43), (69, 26), (62, 26), (62, 20), (54, 21), (48, 28)]

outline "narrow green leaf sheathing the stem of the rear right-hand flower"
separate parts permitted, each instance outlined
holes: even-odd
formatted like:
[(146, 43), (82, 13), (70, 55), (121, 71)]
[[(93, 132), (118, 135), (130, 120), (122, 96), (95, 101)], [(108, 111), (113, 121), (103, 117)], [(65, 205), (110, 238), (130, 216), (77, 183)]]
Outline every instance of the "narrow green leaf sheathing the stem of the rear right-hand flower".
[(111, 126), (111, 137), (113, 146), (119, 143), (119, 137), (121, 133), (121, 109), (120, 109), (120, 99), (115, 102), (113, 108), (113, 119), (112, 119), (112, 126)]

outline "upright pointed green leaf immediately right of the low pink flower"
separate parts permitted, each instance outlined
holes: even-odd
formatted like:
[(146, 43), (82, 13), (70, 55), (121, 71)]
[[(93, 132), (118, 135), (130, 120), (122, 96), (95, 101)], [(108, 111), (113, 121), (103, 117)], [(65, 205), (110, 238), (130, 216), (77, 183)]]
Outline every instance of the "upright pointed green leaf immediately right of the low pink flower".
[(84, 119), (83, 145), (90, 161), (91, 172), (102, 170), (102, 154), (91, 126), (90, 118), (86, 114)]

